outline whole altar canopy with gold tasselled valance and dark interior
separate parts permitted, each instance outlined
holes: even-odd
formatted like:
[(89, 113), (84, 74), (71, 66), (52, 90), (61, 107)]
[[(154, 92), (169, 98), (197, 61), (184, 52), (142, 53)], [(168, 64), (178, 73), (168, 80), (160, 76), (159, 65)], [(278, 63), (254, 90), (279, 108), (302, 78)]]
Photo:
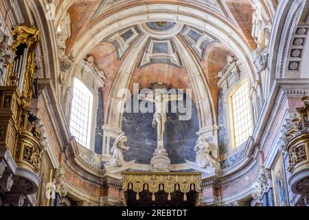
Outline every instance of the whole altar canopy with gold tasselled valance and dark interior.
[(123, 172), (126, 206), (199, 206), (201, 173)]

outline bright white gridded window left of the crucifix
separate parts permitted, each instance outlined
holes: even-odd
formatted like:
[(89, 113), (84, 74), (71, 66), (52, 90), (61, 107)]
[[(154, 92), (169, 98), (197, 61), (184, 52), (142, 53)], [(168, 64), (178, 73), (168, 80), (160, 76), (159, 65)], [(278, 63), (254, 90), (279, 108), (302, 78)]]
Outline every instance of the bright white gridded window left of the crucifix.
[(71, 105), (70, 131), (82, 146), (90, 147), (93, 94), (77, 78), (74, 78)]

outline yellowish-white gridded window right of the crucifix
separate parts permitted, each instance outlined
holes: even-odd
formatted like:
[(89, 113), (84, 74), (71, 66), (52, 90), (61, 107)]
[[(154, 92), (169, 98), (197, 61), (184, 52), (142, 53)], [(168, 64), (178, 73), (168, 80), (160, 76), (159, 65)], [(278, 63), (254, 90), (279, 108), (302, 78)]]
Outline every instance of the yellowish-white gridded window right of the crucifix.
[(242, 145), (253, 131), (252, 109), (249, 98), (249, 83), (246, 81), (230, 96), (231, 135), (233, 147)]

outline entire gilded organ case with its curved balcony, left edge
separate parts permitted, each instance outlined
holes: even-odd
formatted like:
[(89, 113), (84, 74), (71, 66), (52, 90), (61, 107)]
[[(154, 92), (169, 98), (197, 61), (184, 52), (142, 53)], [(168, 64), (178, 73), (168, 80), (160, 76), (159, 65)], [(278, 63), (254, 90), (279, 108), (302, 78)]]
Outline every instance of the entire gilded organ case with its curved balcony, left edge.
[[(30, 103), (34, 94), (35, 51), (41, 33), (35, 27), (19, 26), (12, 30), (12, 39), (12, 52), (27, 48), (27, 54), (21, 73), (23, 82), (13, 72), (14, 61), (8, 65), (6, 86), (0, 88), (0, 147), (10, 151), (19, 167), (38, 173), (42, 131), (38, 118), (30, 114)], [(18, 83), (23, 86), (18, 87)]]

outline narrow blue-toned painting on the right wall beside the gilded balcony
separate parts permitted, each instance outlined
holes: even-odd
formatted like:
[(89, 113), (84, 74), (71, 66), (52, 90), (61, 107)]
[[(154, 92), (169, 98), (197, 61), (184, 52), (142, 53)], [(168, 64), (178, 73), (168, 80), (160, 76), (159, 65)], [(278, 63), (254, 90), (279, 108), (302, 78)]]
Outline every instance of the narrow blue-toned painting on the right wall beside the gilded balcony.
[(282, 153), (279, 153), (271, 170), (271, 175), (273, 178), (275, 206), (289, 206), (286, 171), (284, 168)]

